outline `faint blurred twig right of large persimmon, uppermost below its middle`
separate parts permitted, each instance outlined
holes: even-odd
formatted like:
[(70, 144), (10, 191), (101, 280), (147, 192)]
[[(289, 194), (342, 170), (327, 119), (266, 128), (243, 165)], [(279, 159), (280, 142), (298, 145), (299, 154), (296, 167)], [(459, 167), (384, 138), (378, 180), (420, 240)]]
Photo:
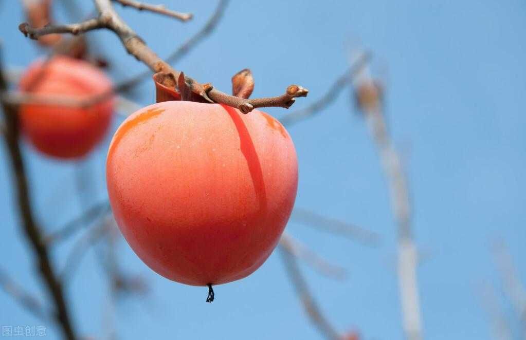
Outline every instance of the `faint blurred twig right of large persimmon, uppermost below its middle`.
[(380, 235), (375, 232), (354, 224), (325, 217), (311, 210), (296, 207), (292, 210), (290, 218), (292, 221), (297, 221), (322, 231), (343, 235), (365, 245), (376, 246), (380, 243)]

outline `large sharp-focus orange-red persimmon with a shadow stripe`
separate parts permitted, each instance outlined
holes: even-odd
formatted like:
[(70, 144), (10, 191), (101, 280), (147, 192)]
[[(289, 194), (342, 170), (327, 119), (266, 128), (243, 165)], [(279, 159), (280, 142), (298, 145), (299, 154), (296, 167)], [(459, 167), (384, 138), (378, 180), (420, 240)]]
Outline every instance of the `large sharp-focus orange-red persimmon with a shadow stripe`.
[(250, 275), (276, 247), (298, 163), (288, 132), (264, 112), (166, 101), (119, 127), (106, 177), (141, 260), (173, 281), (217, 285)]

